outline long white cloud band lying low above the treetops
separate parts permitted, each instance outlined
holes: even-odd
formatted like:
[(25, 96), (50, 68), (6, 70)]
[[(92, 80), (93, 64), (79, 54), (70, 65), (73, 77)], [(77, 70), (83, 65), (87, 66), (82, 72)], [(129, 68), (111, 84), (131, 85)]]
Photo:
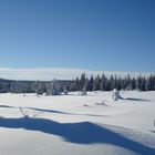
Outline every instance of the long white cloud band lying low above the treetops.
[[(32, 69), (12, 69), (12, 68), (0, 68), (0, 78), (9, 79), (9, 80), (72, 80), (75, 78), (80, 78), (82, 73), (85, 73), (86, 76), (91, 76), (92, 74), (95, 76), (97, 74), (102, 74), (104, 71), (90, 71), (82, 69), (68, 69), (68, 68), (32, 68)], [(125, 76), (126, 74), (131, 74), (132, 76), (149, 75), (151, 73), (138, 73), (138, 72), (104, 72), (105, 75), (121, 75)]]

